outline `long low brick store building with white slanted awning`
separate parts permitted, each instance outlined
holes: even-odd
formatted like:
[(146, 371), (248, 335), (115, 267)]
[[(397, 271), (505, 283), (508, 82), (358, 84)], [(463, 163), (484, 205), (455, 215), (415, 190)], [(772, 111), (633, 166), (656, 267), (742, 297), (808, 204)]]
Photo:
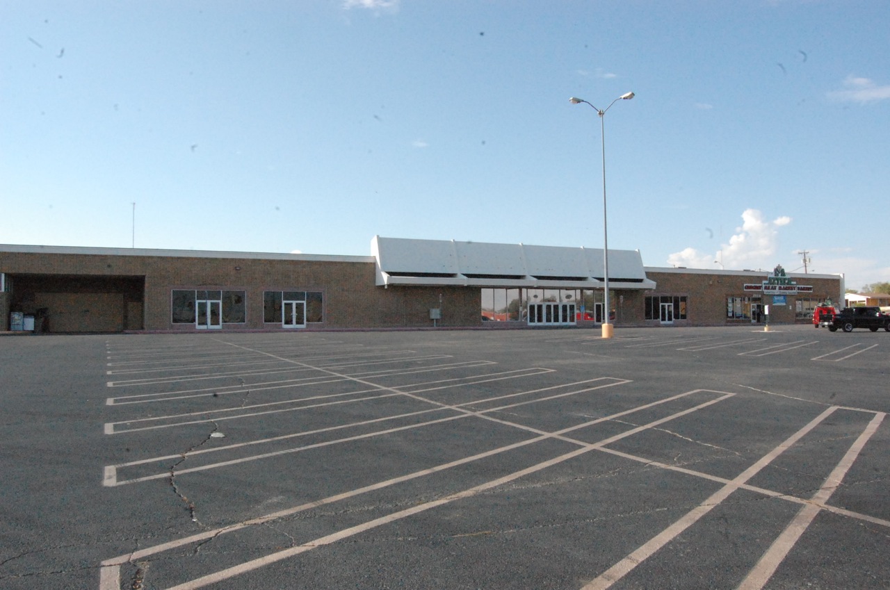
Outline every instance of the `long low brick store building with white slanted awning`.
[[(603, 250), (375, 237), (368, 256), (0, 246), (0, 331), (595, 326)], [(610, 250), (611, 322), (807, 321), (839, 275), (644, 268)], [(791, 285), (794, 283), (794, 285)], [(23, 323), (20, 323), (23, 322)]]

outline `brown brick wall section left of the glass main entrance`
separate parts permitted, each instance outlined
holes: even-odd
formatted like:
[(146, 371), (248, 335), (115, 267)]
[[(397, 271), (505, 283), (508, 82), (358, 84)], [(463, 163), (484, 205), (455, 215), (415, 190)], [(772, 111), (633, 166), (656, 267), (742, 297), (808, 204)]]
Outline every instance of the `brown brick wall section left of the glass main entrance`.
[[(478, 326), (480, 290), (476, 287), (376, 287), (374, 263), (339, 261), (259, 260), (241, 258), (201, 258), (128, 255), (56, 255), (0, 253), (0, 269), (9, 274), (54, 276), (144, 277), (144, 301), (121, 301), (103, 307), (107, 317), (99, 319), (95, 311), (88, 315), (81, 299), (53, 298), (39, 294), (28, 303), (50, 306), (51, 315), (61, 313), (51, 329), (80, 331), (70, 306), (83, 308), (84, 317), (92, 317), (92, 331), (108, 329), (184, 330), (191, 324), (173, 324), (171, 292), (173, 289), (222, 289), (244, 291), (247, 297), (247, 321), (226, 324), (224, 329), (276, 328), (263, 323), (263, 292), (318, 291), (322, 293), (323, 318), (309, 328), (347, 327), (427, 327), (431, 308), (439, 307), (442, 296), (443, 316), (440, 326)], [(94, 294), (95, 300), (99, 295)], [(55, 309), (58, 308), (58, 309)], [(5, 314), (8, 321), (8, 312)], [(144, 324), (142, 317), (144, 316)], [(135, 326), (135, 328), (134, 328)]]

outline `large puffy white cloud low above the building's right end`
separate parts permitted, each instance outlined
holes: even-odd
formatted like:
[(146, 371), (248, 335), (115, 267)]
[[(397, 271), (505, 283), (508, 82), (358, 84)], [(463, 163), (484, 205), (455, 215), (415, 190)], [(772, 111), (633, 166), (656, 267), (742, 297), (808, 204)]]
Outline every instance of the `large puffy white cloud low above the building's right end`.
[(779, 241), (779, 228), (788, 225), (791, 218), (782, 215), (770, 222), (765, 220), (762, 212), (746, 209), (741, 214), (741, 219), (741, 227), (736, 228), (729, 243), (722, 244), (720, 250), (714, 254), (687, 247), (667, 256), (667, 263), (687, 268), (716, 268), (719, 263), (723, 263), (724, 268), (733, 270), (773, 268), (777, 262), (773, 255)]

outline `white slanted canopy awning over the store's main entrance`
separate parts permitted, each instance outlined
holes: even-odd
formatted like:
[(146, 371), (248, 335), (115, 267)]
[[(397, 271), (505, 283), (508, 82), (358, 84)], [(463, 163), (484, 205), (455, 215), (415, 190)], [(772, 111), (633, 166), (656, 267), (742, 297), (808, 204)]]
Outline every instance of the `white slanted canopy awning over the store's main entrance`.
[[(376, 284), (603, 288), (603, 250), (454, 240), (371, 240)], [(638, 250), (609, 250), (610, 289), (653, 289)]]

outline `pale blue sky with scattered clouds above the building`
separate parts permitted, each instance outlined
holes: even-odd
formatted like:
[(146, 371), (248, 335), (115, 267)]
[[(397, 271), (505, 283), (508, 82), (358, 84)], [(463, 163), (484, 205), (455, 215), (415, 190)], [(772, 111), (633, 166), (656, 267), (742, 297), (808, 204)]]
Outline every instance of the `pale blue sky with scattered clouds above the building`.
[(0, 0), (0, 244), (602, 248), (604, 139), (610, 248), (858, 289), (890, 280), (888, 30), (886, 0)]

